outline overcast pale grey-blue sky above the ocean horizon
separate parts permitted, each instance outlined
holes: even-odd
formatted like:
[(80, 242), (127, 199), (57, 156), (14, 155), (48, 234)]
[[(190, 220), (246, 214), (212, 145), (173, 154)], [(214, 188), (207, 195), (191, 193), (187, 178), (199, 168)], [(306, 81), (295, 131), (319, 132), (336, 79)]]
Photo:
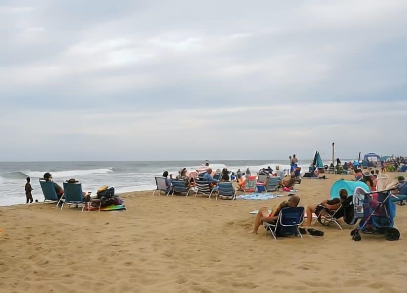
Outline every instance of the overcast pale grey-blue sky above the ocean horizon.
[(407, 155), (407, 1), (0, 1), (0, 161)]

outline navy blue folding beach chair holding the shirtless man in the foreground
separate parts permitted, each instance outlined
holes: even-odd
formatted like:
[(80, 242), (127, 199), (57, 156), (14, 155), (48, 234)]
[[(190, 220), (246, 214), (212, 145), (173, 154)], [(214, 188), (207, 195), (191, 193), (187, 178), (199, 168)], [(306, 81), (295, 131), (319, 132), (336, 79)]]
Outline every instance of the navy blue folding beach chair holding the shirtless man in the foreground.
[(286, 207), (280, 211), (274, 224), (263, 222), (263, 226), (264, 229), (266, 229), (266, 236), (267, 232), (270, 231), (275, 240), (277, 240), (277, 237), (286, 237), (290, 235), (299, 235), (302, 239), (298, 227), (303, 221), (304, 207)]

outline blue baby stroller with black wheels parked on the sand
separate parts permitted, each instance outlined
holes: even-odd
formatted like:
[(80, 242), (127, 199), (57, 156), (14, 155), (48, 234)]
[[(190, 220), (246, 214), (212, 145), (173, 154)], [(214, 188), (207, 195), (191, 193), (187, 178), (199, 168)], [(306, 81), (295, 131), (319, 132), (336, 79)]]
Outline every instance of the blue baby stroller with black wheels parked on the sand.
[(392, 189), (367, 192), (361, 187), (355, 189), (353, 205), (355, 219), (361, 219), (356, 229), (351, 231), (352, 240), (360, 241), (360, 232), (384, 235), (386, 240), (400, 238), (400, 232), (393, 227), (396, 207), (391, 200)]

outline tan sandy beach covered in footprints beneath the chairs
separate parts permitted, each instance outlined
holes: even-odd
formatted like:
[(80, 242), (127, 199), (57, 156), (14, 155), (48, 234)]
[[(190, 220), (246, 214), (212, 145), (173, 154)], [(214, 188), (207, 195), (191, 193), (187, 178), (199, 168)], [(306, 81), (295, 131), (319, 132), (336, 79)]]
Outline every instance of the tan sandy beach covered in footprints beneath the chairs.
[[(397, 173), (391, 173), (395, 177)], [(328, 198), (340, 178), (303, 179), (300, 205)], [(250, 211), (269, 201), (122, 195), (124, 212), (81, 212), (53, 204), (0, 207), (2, 292), (403, 292), (407, 206), (397, 205), (399, 241), (352, 226), (315, 228), (323, 237), (273, 240), (248, 234)], [(342, 220), (340, 220), (343, 223)]]

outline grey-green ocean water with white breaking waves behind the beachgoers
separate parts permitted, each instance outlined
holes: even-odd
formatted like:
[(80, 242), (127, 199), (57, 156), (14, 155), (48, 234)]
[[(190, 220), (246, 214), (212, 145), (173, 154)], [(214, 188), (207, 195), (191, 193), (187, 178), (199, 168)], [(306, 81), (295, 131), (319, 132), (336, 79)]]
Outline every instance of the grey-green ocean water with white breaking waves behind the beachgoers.
[[(302, 171), (307, 171), (310, 160), (299, 161)], [(189, 171), (203, 166), (205, 161), (133, 161), (133, 162), (0, 162), (0, 206), (26, 202), (24, 186), (26, 178), (31, 177), (33, 199), (43, 201), (44, 196), (39, 185), (39, 178), (50, 172), (53, 181), (63, 186), (65, 180), (75, 178), (82, 183), (84, 191), (96, 190), (102, 185), (115, 188), (116, 193), (155, 189), (154, 176), (162, 175), (167, 170), (174, 177), (178, 170), (186, 167)], [(242, 172), (249, 167), (252, 174), (259, 169), (271, 166), (273, 170), (288, 169), (288, 160), (264, 161), (213, 161), (213, 170), (227, 167), (231, 171)]]

